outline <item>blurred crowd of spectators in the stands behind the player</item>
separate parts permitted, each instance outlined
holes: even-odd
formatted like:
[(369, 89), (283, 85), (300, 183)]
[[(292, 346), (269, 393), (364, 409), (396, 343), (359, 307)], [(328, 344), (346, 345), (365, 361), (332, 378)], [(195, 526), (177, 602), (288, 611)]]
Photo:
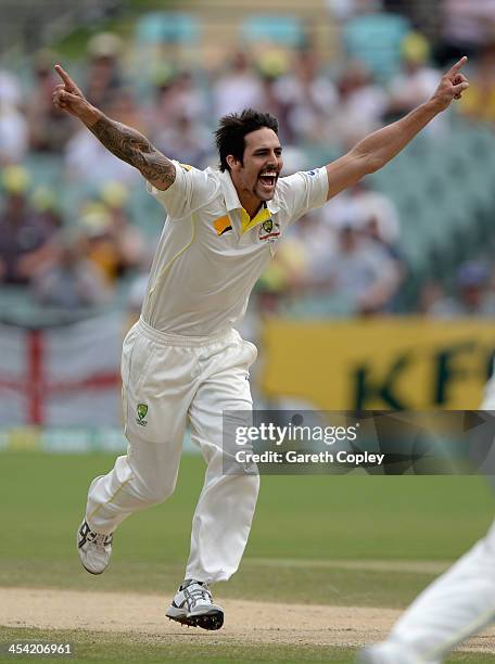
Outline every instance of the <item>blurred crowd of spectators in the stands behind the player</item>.
[[(278, 117), (285, 175), (325, 163), (423, 102), (444, 67), (464, 53), (471, 56), (471, 88), (457, 113), (495, 124), (495, 0), (444, 0), (435, 41), (415, 24), (407, 2), (327, 5), (342, 35), (332, 62), (310, 44), (245, 48), (214, 71), (158, 60), (137, 80), (130, 47), (102, 33), (74, 68), (64, 64), (109, 116), (141, 130), (170, 158), (200, 168), (216, 163), (216, 119), (249, 106)], [(359, 41), (370, 18), (382, 22), (379, 51), (386, 62), (376, 62), (377, 49), (367, 51), (373, 44)], [(125, 281), (138, 309), (153, 253), (130, 204), (143, 189), (141, 177), (53, 107), (54, 62), (54, 53), (38, 52), (28, 80), (0, 65), (0, 284), (25, 288), (41, 305), (78, 309), (109, 304)], [(429, 140), (448, 131), (446, 114), (428, 128)], [(29, 164), (37, 158), (60, 163), (60, 189), (36, 181)], [(88, 193), (75, 195), (71, 207), (71, 192), (80, 193), (81, 182)], [(62, 191), (68, 192), (65, 206)], [(447, 286), (428, 282), (418, 310), (493, 315), (492, 271), (490, 263), (471, 260)], [(365, 180), (294, 226), (257, 285), (257, 303), (267, 312), (294, 315), (394, 312), (407, 279), (397, 209)]]

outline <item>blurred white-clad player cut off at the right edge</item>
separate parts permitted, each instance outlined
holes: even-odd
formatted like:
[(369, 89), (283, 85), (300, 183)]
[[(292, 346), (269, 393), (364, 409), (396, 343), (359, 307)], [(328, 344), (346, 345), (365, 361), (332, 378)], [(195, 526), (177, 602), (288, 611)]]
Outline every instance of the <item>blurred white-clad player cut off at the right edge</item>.
[[(495, 410), (495, 374), (481, 410)], [(360, 664), (441, 664), (455, 646), (495, 621), (495, 522), (405, 611), (383, 643), (366, 648)]]

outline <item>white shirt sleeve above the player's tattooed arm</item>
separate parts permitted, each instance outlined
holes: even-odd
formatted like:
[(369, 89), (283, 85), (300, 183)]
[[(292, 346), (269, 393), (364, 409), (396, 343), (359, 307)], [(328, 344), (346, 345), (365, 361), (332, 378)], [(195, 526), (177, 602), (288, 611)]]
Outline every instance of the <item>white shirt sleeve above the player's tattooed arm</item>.
[(215, 182), (204, 170), (174, 161), (176, 178), (165, 191), (147, 182), (148, 192), (166, 209), (169, 217), (180, 219), (189, 216), (215, 194)]

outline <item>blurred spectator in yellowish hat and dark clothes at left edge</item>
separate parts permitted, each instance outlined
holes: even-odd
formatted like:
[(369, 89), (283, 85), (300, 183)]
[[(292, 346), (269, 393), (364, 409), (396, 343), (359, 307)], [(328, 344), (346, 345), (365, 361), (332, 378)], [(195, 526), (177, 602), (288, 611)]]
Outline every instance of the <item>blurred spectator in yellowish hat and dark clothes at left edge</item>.
[(1, 184), (4, 205), (0, 212), (0, 281), (24, 285), (48, 259), (49, 241), (56, 229), (29, 204), (29, 176), (24, 168), (4, 168)]

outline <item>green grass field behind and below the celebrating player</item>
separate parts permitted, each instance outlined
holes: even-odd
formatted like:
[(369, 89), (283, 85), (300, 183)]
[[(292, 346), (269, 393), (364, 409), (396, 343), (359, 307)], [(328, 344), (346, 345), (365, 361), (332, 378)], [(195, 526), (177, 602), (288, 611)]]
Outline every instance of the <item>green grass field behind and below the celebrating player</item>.
[[(203, 462), (183, 458), (175, 495), (123, 524), (111, 569), (94, 579), (79, 566), (74, 533), (89, 481), (112, 464), (105, 455), (0, 454), (0, 586), (145, 592), (163, 596), (165, 608), (182, 577)], [(454, 560), (484, 533), (494, 507), (492, 490), (479, 477), (265, 476), (241, 570), (217, 591), (258, 601), (403, 608), (434, 576), (414, 562), (436, 561), (440, 567)], [(77, 644), (71, 661), (198, 662), (192, 635), (161, 643), (139, 642), (136, 635), (4, 627), (0, 641), (68, 639)], [(232, 647), (207, 636), (201, 638), (202, 662), (354, 656), (330, 646)], [(474, 664), (493, 661), (493, 654), (449, 661)]]

